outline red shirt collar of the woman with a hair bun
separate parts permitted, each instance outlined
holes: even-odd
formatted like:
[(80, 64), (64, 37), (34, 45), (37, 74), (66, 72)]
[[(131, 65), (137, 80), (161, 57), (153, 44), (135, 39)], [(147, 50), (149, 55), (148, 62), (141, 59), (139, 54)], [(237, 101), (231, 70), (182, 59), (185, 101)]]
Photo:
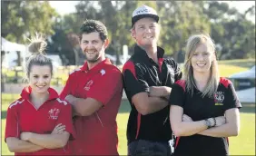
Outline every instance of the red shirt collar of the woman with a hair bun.
[[(29, 100), (29, 95), (31, 94), (31, 92), (32, 92), (32, 88), (30, 86), (25, 87), (22, 90), (21, 97), (24, 98), (25, 100)], [(48, 93), (49, 93), (49, 97), (47, 101), (54, 100), (59, 97), (58, 93), (51, 87), (48, 88)]]

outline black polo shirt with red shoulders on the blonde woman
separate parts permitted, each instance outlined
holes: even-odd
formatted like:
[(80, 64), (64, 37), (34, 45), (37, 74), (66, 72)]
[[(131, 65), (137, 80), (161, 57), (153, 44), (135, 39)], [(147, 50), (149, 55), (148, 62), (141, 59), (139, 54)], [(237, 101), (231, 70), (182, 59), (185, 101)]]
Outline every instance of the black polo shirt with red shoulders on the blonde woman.
[[(221, 78), (214, 98), (204, 96), (194, 88), (193, 95), (185, 90), (185, 81), (179, 80), (172, 86), (169, 102), (183, 108), (183, 113), (192, 121), (201, 121), (211, 117), (224, 116), (226, 110), (241, 108), (233, 84), (226, 78)], [(211, 137), (200, 134), (178, 137), (175, 143), (174, 155), (228, 155), (229, 142), (225, 137)]]

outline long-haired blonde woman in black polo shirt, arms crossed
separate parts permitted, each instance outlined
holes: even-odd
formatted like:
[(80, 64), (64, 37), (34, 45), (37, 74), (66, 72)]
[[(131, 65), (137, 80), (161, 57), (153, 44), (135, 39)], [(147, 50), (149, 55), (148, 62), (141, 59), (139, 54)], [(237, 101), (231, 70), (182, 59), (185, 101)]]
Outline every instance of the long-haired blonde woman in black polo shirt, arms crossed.
[(169, 102), (175, 156), (229, 154), (228, 137), (240, 129), (241, 102), (231, 81), (219, 77), (209, 35), (188, 39), (183, 77), (172, 86)]

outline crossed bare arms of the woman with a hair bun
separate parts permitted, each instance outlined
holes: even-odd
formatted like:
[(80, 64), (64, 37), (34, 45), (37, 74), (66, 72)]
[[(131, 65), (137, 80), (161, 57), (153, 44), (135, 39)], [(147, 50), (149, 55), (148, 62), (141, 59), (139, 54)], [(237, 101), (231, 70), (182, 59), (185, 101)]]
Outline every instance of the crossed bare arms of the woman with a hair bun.
[(64, 129), (64, 125), (58, 124), (51, 134), (22, 132), (20, 139), (8, 137), (6, 138), (6, 143), (9, 151), (12, 152), (34, 152), (43, 149), (62, 148), (68, 141), (70, 135)]

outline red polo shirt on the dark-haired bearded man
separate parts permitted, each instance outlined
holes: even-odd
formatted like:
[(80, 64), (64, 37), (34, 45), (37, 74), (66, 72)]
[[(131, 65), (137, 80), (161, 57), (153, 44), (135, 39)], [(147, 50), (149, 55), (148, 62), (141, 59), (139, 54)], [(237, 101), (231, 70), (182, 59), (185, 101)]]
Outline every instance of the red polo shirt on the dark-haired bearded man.
[[(116, 115), (123, 95), (122, 73), (109, 59), (98, 63), (91, 70), (87, 63), (69, 75), (60, 97), (72, 94), (77, 98), (94, 98), (103, 108), (91, 116), (75, 116), (77, 138), (73, 143), (74, 154), (118, 155)], [(86, 104), (86, 103), (84, 103)]]

